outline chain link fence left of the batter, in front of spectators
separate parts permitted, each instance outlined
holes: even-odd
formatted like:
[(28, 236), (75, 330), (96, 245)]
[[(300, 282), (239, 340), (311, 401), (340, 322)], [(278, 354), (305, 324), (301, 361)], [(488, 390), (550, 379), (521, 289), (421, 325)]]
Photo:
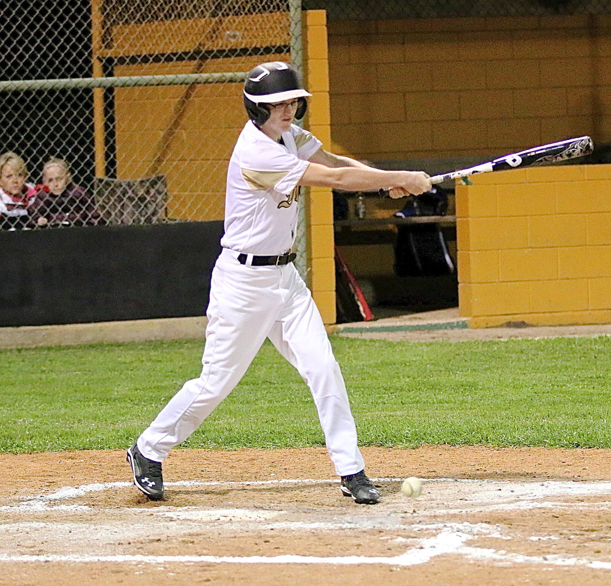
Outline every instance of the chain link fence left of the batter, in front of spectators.
[(9, 0), (3, 12), (4, 229), (222, 220), (246, 72), (301, 65), (287, 0)]

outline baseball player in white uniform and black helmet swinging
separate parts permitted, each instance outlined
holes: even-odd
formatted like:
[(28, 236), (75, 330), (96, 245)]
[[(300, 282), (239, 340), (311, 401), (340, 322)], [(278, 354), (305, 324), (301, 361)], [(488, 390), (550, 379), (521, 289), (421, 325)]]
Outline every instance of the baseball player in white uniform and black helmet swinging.
[(304, 116), (310, 95), (283, 62), (258, 65), (244, 84), (250, 120), (229, 161), (225, 234), (212, 273), (202, 374), (183, 385), (127, 450), (134, 484), (149, 499), (163, 499), (161, 466), (172, 447), (227, 397), (269, 338), (312, 392), (342, 493), (359, 504), (379, 501), (365, 475), (342, 372), (293, 265), (299, 186), (386, 188), (400, 197), (422, 194), (431, 183), (423, 172), (382, 171), (324, 151), (320, 140), (293, 124)]

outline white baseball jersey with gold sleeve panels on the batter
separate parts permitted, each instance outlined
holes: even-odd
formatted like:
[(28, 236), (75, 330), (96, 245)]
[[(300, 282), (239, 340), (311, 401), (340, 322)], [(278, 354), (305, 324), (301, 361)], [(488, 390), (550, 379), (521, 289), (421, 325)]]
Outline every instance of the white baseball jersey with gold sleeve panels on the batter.
[(299, 179), (322, 143), (291, 125), (278, 143), (252, 121), (244, 126), (227, 172), (221, 246), (254, 255), (281, 255), (293, 246)]

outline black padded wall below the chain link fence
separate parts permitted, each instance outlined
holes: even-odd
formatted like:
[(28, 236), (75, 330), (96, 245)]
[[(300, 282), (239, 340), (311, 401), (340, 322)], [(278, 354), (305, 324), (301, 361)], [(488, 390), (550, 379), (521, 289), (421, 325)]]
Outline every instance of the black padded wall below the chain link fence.
[(0, 232), (0, 326), (205, 314), (222, 222)]

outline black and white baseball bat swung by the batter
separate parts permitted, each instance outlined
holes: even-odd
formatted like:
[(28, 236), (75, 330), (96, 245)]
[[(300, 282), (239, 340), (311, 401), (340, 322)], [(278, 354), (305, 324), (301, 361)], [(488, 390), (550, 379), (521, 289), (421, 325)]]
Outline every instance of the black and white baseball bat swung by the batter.
[[(551, 165), (560, 161), (568, 161), (590, 154), (594, 150), (594, 144), (589, 136), (580, 136), (577, 139), (561, 140), (552, 142), (542, 147), (533, 147), (519, 153), (506, 154), (503, 157), (494, 159), (468, 169), (459, 169), (452, 173), (434, 175), (431, 177), (433, 185), (443, 183), (446, 179), (459, 179), (475, 173), (489, 173), (491, 171), (507, 171), (522, 167), (534, 167), (535, 165)], [(388, 189), (381, 190), (384, 195), (389, 194)]]

